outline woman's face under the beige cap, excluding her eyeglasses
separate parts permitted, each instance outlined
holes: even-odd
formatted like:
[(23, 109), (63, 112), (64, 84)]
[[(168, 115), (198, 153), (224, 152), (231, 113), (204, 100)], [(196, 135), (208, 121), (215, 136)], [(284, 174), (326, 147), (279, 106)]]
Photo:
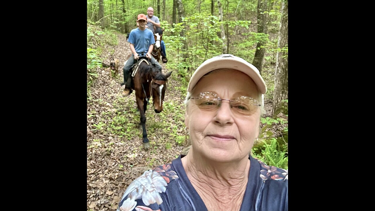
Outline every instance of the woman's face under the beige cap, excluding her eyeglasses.
[[(237, 96), (258, 97), (254, 81), (237, 70), (217, 71), (201, 78), (192, 98), (201, 92), (217, 94), (220, 99)], [(218, 109), (205, 110), (189, 99), (185, 124), (190, 131), (194, 153), (214, 161), (235, 161), (247, 157), (259, 134), (260, 108), (251, 116), (243, 116), (223, 100)]]

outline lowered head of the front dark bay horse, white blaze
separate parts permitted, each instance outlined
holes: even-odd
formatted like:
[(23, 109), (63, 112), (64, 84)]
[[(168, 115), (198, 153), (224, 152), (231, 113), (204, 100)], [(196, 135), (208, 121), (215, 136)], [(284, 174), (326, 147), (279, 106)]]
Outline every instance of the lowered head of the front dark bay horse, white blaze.
[(152, 82), (151, 82), (151, 95), (153, 99), (153, 105), (155, 113), (160, 113), (163, 110), (163, 101), (166, 90), (166, 82), (168, 77), (171, 76), (172, 71), (164, 75), (156, 67), (153, 66), (151, 69)]

